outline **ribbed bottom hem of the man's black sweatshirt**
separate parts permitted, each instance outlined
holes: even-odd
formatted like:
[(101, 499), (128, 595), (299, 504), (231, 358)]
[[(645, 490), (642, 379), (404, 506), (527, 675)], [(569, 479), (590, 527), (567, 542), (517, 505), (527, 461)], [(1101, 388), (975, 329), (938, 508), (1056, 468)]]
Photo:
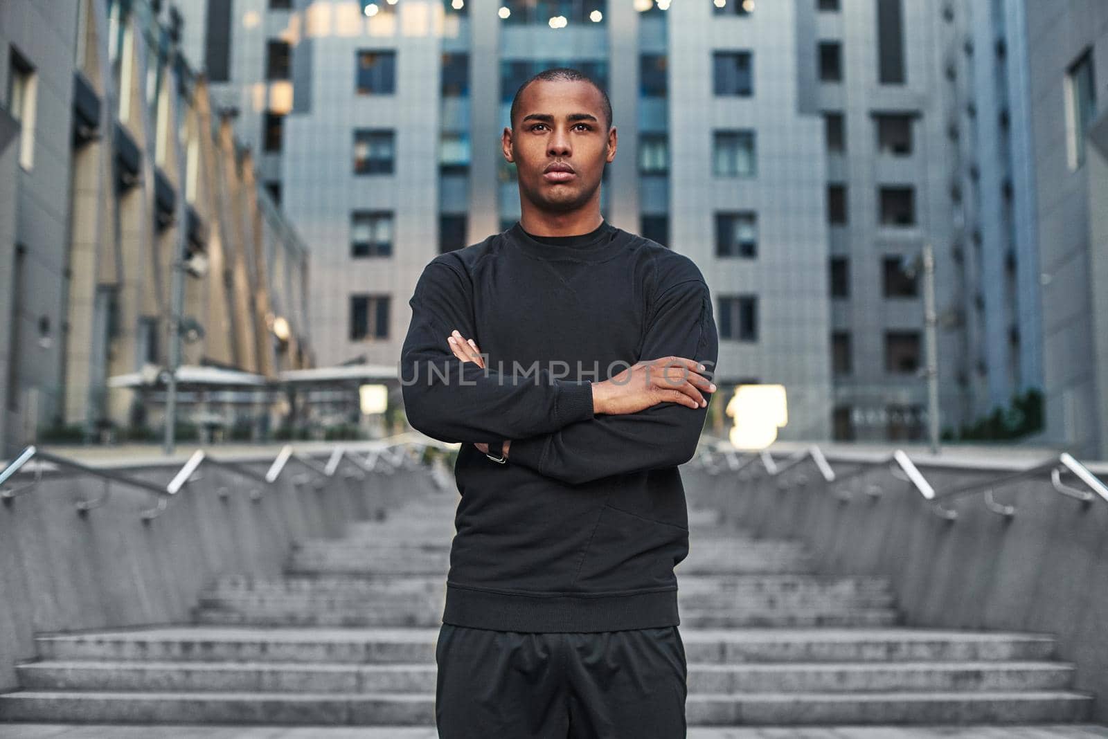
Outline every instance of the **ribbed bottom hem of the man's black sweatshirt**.
[(520, 595), (447, 584), (442, 623), (499, 632), (618, 632), (678, 626), (677, 587), (618, 595)]

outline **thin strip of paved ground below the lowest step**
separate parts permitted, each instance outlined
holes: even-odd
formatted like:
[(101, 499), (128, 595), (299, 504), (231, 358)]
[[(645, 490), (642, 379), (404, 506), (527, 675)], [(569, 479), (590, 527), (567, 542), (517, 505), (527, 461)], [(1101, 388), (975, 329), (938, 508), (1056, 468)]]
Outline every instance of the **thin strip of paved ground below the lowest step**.
[[(1108, 726), (839, 726), (689, 729), (687, 739), (1092, 739), (1108, 737)], [(68, 726), (0, 724), (2, 739), (438, 739), (434, 729), (388, 727), (216, 727)]]

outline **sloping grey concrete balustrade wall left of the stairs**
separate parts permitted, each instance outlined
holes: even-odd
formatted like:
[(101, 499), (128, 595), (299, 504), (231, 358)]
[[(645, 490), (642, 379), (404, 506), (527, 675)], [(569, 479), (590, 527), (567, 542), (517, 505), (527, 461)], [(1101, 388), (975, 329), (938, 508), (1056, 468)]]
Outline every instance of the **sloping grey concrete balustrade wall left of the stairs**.
[[(365, 457), (380, 445), (342, 447)], [(219, 576), (278, 576), (294, 542), (340, 537), (349, 522), (379, 518), (437, 485), (418, 467), (366, 472), (350, 460), (328, 477), (320, 469), (332, 449), (301, 450), (319, 468), (293, 458), (269, 485), (202, 462), (148, 521), (141, 514), (156, 509), (153, 493), (66, 470), (44, 471), (0, 502), (0, 693), (19, 687), (16, 663), (38, 656), (35, 634), (189, 623), (199, 593)], [(264, 476), (279, 450), (212, 454)], [(187, 458), (95, 467), (164, 489)], [(0, 487), (33, 480), (24, 469)], [(78, 511), (76, 501), (98, 499)]]

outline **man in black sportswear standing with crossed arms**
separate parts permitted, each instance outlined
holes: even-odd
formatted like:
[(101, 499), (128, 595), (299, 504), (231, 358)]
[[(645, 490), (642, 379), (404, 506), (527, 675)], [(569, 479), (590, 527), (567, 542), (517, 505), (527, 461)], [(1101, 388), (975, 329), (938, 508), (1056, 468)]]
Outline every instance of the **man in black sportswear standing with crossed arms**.
[(502, 147), (521, 218), (431, 260), (401, 355), (411, 425), (462, 443), (439, 736), (678, 739), (677, 466), (716, 389), (708, 287), (602, 218), (616, 129), (592, 80), (525, 82)]

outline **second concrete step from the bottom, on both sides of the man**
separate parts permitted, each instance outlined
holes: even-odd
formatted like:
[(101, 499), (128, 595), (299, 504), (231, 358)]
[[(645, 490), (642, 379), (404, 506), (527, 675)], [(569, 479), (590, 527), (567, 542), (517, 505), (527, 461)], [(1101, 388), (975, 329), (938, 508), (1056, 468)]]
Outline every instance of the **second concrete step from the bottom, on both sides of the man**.
[[(1074, 666), (1055, 662), (690, 663), (689, 693), (1061, 690)], [(42, 660), (17, 665), (28, 690), (232, 693), (434, 691), (433, 664)]]

